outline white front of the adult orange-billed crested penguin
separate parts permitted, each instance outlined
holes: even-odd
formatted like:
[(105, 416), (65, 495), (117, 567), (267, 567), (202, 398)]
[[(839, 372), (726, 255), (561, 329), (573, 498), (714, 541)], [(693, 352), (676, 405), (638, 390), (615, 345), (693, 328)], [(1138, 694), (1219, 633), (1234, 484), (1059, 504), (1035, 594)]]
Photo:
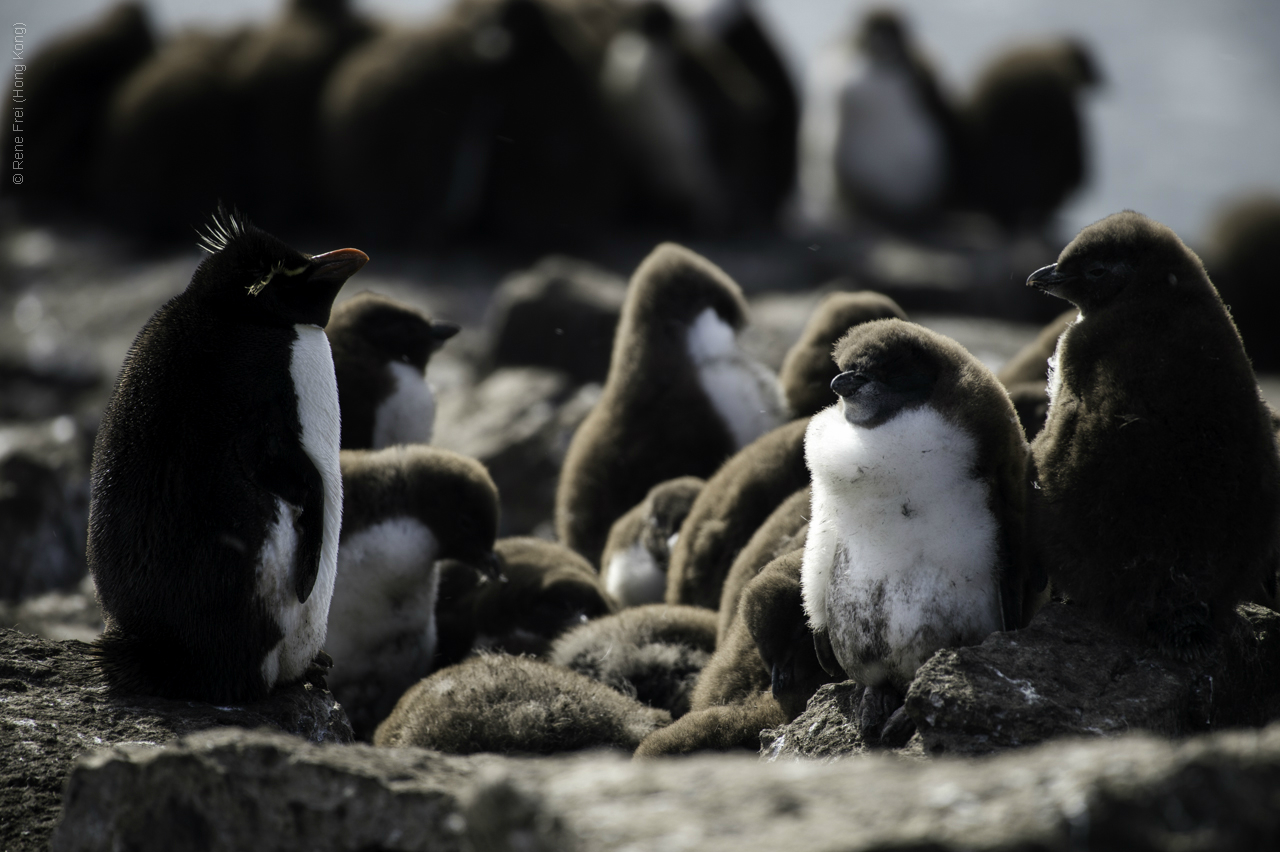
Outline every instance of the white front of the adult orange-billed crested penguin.
[(262, 545), (257, 569), (257, 595), (266, 601), (284, 633), (262, 660), (262, 677), (269, 686), (301, 678), (324, 646), (342, 528), (342, 472), (338, 468), (340, 417), (333, 353), (324, 329), (297, 325), (294, 331), (297, 338), (291, 352), (289, 376), (297, 395), (302, 449), (320, 472), (324, 485), (324, 535), (315, 586), (307, 599), (298, 603), (293, 583), (294, 554), (300, 544), (294, 519), (301, 507), (276, 499), (276, 518)]

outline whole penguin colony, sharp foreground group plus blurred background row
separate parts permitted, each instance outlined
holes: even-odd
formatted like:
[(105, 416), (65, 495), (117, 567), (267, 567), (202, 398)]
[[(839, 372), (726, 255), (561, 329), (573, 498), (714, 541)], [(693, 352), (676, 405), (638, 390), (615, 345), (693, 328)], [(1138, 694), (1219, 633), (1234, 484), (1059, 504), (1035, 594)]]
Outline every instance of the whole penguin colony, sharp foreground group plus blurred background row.
[[(392, 242), (724, 233), (769, 220), (795, 165), (799, 109), (746, 3), (695, 22), (659, 3), (476, 0), (379, 31), (296, 0), (269, 28), (159, 46), (123, 6), (41, 73), (73, 90), (108, 52), (50, 148), (87, 174), (45, 201), (97, 203), (83, 188), (100, 187), (155, 233), (224, 191), (294, 223), (335, 203)], [(969, 209), (1039, 229), (1083, 180), (1078, 99), (1100, 74), (1078, 42), (1001, 58), (961, 106), (895, 13), (837, 54), (801, 136), (827, 215), (910, 230)], [(549, 120), (531, 95), (548, 87)], [(256, 139), (225, 120), (246, 91)], [(411, 109), (433, 99), (452, 122)], [(1020, 141), (1047, 102), (1052, 145)], [(298, 156), (252, 147), (265, 138)], [(136, 184), (95, 171), (143, 141)], [(307, 179), (325, 162), (358, 171), (335, 198)], [(1213, 262), (1242, 285), (1276, 216), (1236, 217)], [(223, 209), (204, 242), (95, 445), (87, 555), (115, 691), (227, 704), (326, 681), (380, 746), (655, 756), (754, 751), (852, 679), (864, 739), (900, 746), (919, 668), (1027, 626), (1050, 595), (1193, 663), (1236, 603), (1275, 604), (1274, 413), (1204, 265), (1140, 214), (1027, 279), (1071, 310), (998, 377), (868, 292), (824, 299), (774, 375), (742, 345), (739, 285), (659, 244), (593, 374), (599, 403), (548, 507), (557, 541), (499, 537), (489, 472), (428, 446), (425, 374), (457, 325), (372, 293), (335, 306), (357, 249), (307, 255)]]

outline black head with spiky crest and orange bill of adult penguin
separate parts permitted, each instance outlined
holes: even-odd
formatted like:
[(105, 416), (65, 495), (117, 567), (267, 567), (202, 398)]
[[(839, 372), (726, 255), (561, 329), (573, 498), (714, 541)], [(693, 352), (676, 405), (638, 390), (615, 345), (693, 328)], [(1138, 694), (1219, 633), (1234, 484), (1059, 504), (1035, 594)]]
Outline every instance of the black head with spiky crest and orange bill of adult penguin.
[(357, 248), (303, 255), (224, 207), (214, 214), (201, 248), (210, 256), (187, 292), (253, 325), (324, 327), (338, 290), (369, 262)]

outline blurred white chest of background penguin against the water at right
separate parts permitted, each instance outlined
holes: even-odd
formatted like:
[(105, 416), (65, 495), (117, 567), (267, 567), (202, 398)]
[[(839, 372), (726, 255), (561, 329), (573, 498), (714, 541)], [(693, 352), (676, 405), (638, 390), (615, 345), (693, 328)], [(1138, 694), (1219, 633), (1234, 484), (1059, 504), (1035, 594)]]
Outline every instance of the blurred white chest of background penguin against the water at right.
[(901, 214), (938, 200), (946, 139), (905, 72), (868, 63), (850, 70), (840, 95), (836, 169), (854, 192)]

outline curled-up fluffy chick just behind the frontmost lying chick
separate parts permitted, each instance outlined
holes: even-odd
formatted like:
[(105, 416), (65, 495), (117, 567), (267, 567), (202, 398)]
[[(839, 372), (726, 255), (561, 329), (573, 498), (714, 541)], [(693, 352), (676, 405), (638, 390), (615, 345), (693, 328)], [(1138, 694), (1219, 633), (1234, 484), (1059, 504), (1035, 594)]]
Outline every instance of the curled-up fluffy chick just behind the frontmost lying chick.
[(575, 627), (547, 659), (678, 719), (714, 651), (714, 613), (649, 604)]

